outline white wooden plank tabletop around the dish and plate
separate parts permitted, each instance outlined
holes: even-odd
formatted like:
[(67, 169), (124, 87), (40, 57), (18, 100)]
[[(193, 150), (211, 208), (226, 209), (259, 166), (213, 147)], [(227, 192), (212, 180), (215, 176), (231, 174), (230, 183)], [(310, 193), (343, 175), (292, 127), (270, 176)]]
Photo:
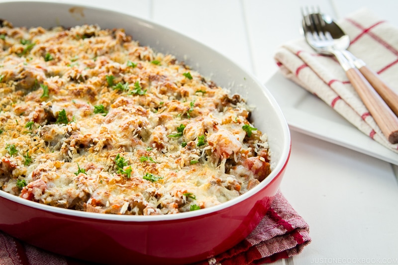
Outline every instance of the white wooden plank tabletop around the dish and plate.
[[(337, 19), (366, 6), (398, 27), (396, 0), (60, 2), (153, 20), (210, 46), (264, 84), (278, 71), (275, 49), (301, 37), (301, 6), (319, 6)], [(275, 264), (398, 264), (398, 167), (296, 131), (292, 146), (281, 189), (308, 222), (312, 243)]]

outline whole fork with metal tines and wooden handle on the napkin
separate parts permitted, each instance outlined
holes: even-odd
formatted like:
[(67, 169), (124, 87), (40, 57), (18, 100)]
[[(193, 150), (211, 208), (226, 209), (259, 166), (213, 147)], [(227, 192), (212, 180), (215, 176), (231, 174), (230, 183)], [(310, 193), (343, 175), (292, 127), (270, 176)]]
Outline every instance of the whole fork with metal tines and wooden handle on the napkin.
[(376, 92), (372, 85), (364, 78), (351, 60), (344, 56), (344, 51), (348, 48), (349, 37), (342, 33), (339, 38), (333, 39), (329, 29), (325, 27), (323, 15), (319, 8), (305, 8), (308, 14), (305, 14), (303, 8), (302, 27), (307, 43), (318, 53), (324, 55), (334, 55), (337, 61), (344, 69), (351, 85), (355, 88), (370, 114), (379, 125), (383, 134), (390, 143), (398, 143), (398, 118), (381, 96)]

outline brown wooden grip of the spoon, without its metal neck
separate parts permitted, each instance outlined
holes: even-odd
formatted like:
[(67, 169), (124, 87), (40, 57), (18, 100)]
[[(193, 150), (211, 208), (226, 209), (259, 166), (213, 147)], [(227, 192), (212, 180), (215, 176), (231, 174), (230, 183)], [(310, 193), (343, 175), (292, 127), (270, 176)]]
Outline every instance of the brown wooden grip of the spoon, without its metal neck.
[(390, 88), (378, 74), (367, 66), (362, 66), (359, 71), (369, 81), (373, 88), (386, 101), (387, 105), (398, 116), (398, 94)]

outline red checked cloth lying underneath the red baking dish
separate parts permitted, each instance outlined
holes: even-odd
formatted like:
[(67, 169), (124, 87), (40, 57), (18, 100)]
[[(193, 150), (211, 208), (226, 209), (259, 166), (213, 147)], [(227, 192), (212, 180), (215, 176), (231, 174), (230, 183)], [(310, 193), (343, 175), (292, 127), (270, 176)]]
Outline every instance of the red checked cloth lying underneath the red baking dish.
[[(203, 265), (255, 265), (299, 254), (311, 241), (308, 224), (279, 191), (266, 216), (253, 232), (234, 248), (203, 261)], [(0, 231), (0, 265), (87, 265), (55, 255)]]

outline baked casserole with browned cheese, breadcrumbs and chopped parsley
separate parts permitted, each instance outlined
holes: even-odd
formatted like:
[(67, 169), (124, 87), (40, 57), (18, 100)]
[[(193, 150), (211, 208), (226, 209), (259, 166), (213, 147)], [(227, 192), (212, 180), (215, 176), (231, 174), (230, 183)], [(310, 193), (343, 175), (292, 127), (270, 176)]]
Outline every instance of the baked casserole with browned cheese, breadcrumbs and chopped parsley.
[[(113, 214), (211, 207), (270, 173), (239, 95), (122, 29), (0, 28), (0, 189)], [(249, 128), (249, 129), (248, 129)]]

